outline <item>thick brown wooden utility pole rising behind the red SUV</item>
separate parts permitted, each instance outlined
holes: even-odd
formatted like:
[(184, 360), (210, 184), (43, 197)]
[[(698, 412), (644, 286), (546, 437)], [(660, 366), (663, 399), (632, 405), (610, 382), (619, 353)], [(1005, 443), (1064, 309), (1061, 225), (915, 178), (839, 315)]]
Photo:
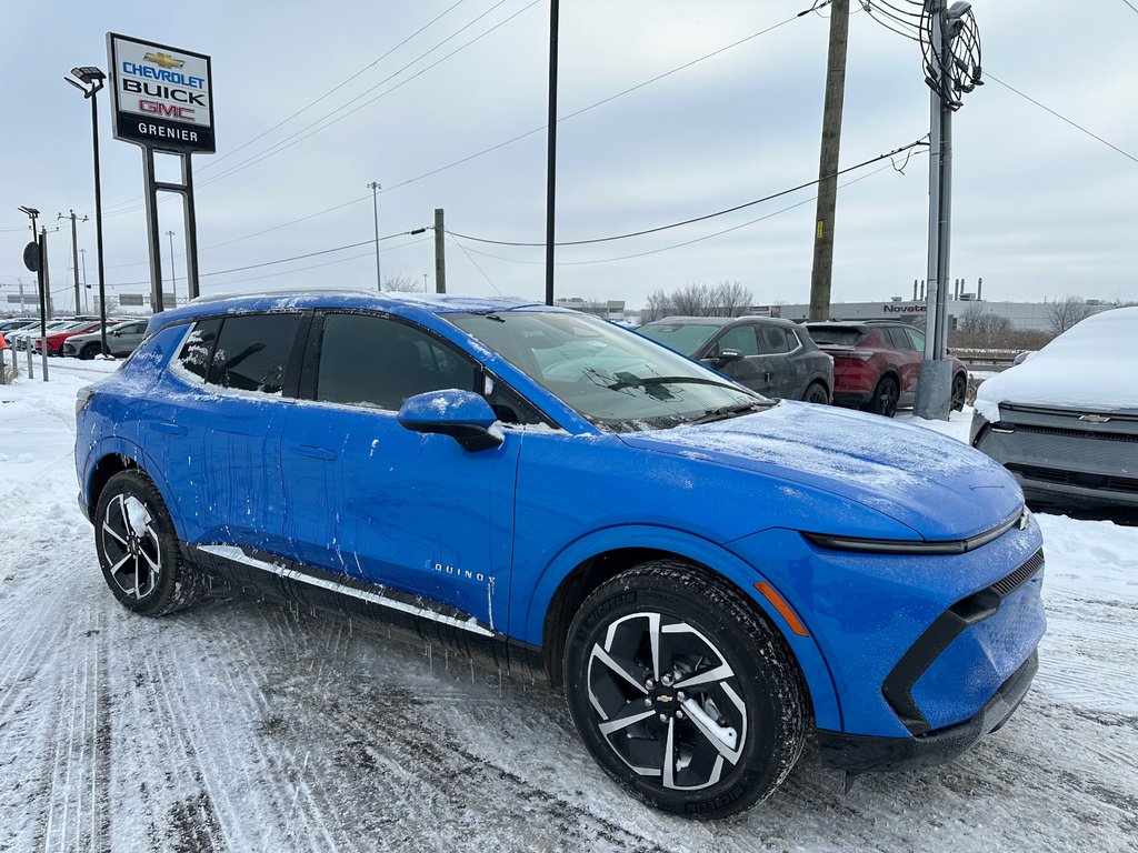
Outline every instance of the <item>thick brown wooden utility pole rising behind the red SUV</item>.
[(838, 157), (842, 142), (849, 19), (849, 0), (834, 0), (830, 6), (826, 99), (822, 116), (818, 206), (814, 226), (814, 270), (810, 274), (810, 320), (830, 320), (830, 291), (834, 266), (834, 214), (838, 207)]

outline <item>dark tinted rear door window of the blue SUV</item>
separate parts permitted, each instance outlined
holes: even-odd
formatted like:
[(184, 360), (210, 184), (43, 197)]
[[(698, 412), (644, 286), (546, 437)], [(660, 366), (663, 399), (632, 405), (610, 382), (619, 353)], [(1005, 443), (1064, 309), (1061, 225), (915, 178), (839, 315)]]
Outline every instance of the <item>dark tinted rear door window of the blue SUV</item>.
[(225, 317), (207, 382), (245, 391), (280, 394), (299, 314)]

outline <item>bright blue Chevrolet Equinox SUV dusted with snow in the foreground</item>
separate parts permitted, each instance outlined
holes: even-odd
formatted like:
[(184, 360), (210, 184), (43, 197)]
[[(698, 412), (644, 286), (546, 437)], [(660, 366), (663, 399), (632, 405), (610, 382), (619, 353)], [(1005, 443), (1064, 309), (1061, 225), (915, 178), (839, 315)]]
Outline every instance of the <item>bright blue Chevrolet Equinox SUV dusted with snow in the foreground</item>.
[(195, 301), (76, 408), (126, 608), (224, 582), (490, 655), (563, 685), (597, 763), (667, 811), (752, 805), (807, 738), (846, 771), (945, 761), (1036, 672), (1041, 537), (1003, 467), (576, 312)]

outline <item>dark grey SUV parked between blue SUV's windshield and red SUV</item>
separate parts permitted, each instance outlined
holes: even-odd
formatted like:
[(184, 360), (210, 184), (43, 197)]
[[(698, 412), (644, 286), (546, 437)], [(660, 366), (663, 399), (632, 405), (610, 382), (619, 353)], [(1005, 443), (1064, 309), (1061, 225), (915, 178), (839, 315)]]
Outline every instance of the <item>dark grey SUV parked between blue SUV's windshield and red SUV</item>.
[(834, 361), (790, 321), (668, 317), (637, 331), (767, 397), (830, 403)]

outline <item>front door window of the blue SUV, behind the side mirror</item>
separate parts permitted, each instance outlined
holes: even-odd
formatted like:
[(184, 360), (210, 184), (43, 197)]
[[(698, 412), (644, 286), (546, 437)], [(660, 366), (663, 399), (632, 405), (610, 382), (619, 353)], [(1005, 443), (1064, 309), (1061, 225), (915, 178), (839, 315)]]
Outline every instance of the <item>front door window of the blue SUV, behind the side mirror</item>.
[(369, 314), (329, 314), (320, 346), (316, 399), (398, 411), (407, 397), (477, 390), (463, 354), (413, 326)]

